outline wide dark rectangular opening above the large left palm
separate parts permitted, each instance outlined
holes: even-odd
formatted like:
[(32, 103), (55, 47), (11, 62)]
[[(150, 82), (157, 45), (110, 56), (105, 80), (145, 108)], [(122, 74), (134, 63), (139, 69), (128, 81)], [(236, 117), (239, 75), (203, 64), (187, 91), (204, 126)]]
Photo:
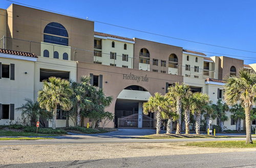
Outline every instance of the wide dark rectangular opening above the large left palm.
[(67, 71), (40, 69), (40, 81), (47, 80), (51, 76), (69, 80), (69, 72)]

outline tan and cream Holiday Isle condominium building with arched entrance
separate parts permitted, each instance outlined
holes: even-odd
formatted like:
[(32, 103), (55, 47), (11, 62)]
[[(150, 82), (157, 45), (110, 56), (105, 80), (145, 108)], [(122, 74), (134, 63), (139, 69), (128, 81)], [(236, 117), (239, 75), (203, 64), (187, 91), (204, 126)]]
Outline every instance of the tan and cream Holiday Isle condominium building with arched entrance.
[[(206, 93), (216, 103), (223, 98), (226, 76), (238, 75), (242, 68), (256, 70), (255, 64), (244, 65), (239, 59), (95, 32), (89, 20), (15, 4), (0, 13), (0, 124), (21, 118), (16, 108), (25, 98), (36, 101), (42, 80), (50, 76), (79, 81), (90, 75), (91, 85), (113, 97), (106, 110), (115, 120), (107, 127), (154, 128), (155, 116), (143, 115), (142, 104), (156, 92), (165, 94), (175, 82), (185, 82), (191, 91)], [(9, 78), (3, 77), (7, 74)], [(234, 129), (227, 114), (224, 125)], [(65, 123), (58, 110), (57, 127)]]

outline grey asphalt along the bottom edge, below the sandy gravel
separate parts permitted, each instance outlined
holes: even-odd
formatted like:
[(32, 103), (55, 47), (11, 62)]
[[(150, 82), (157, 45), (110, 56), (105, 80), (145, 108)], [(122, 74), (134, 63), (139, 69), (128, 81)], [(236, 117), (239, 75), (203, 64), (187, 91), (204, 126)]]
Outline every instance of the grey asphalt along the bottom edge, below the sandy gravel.
[(0, 167), (256, 167), (256, 152), (228, 152), (0, 165)]

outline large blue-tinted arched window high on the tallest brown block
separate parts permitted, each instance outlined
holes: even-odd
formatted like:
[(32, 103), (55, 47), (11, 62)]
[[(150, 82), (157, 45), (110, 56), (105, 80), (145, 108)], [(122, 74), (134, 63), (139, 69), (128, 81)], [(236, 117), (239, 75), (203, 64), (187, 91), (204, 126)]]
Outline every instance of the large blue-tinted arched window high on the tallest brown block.
[(44, 30), (44, 42), (69, 45), (69, 35), (65, 27), (56, 22), (51, 22), (46, 25)]

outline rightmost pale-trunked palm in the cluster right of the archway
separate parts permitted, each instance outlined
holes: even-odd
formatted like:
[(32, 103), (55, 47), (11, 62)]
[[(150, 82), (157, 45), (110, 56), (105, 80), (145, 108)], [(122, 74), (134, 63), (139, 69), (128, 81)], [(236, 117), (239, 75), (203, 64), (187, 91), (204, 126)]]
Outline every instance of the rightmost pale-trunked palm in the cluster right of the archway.
[(192, 113), (196, 116), (196, 133), (200, 134), (201, 114), (207, 108), (210, 100), (207, 94), (196, 92), (193, 94), (193, 101), (195, 106), (193, 107)]

